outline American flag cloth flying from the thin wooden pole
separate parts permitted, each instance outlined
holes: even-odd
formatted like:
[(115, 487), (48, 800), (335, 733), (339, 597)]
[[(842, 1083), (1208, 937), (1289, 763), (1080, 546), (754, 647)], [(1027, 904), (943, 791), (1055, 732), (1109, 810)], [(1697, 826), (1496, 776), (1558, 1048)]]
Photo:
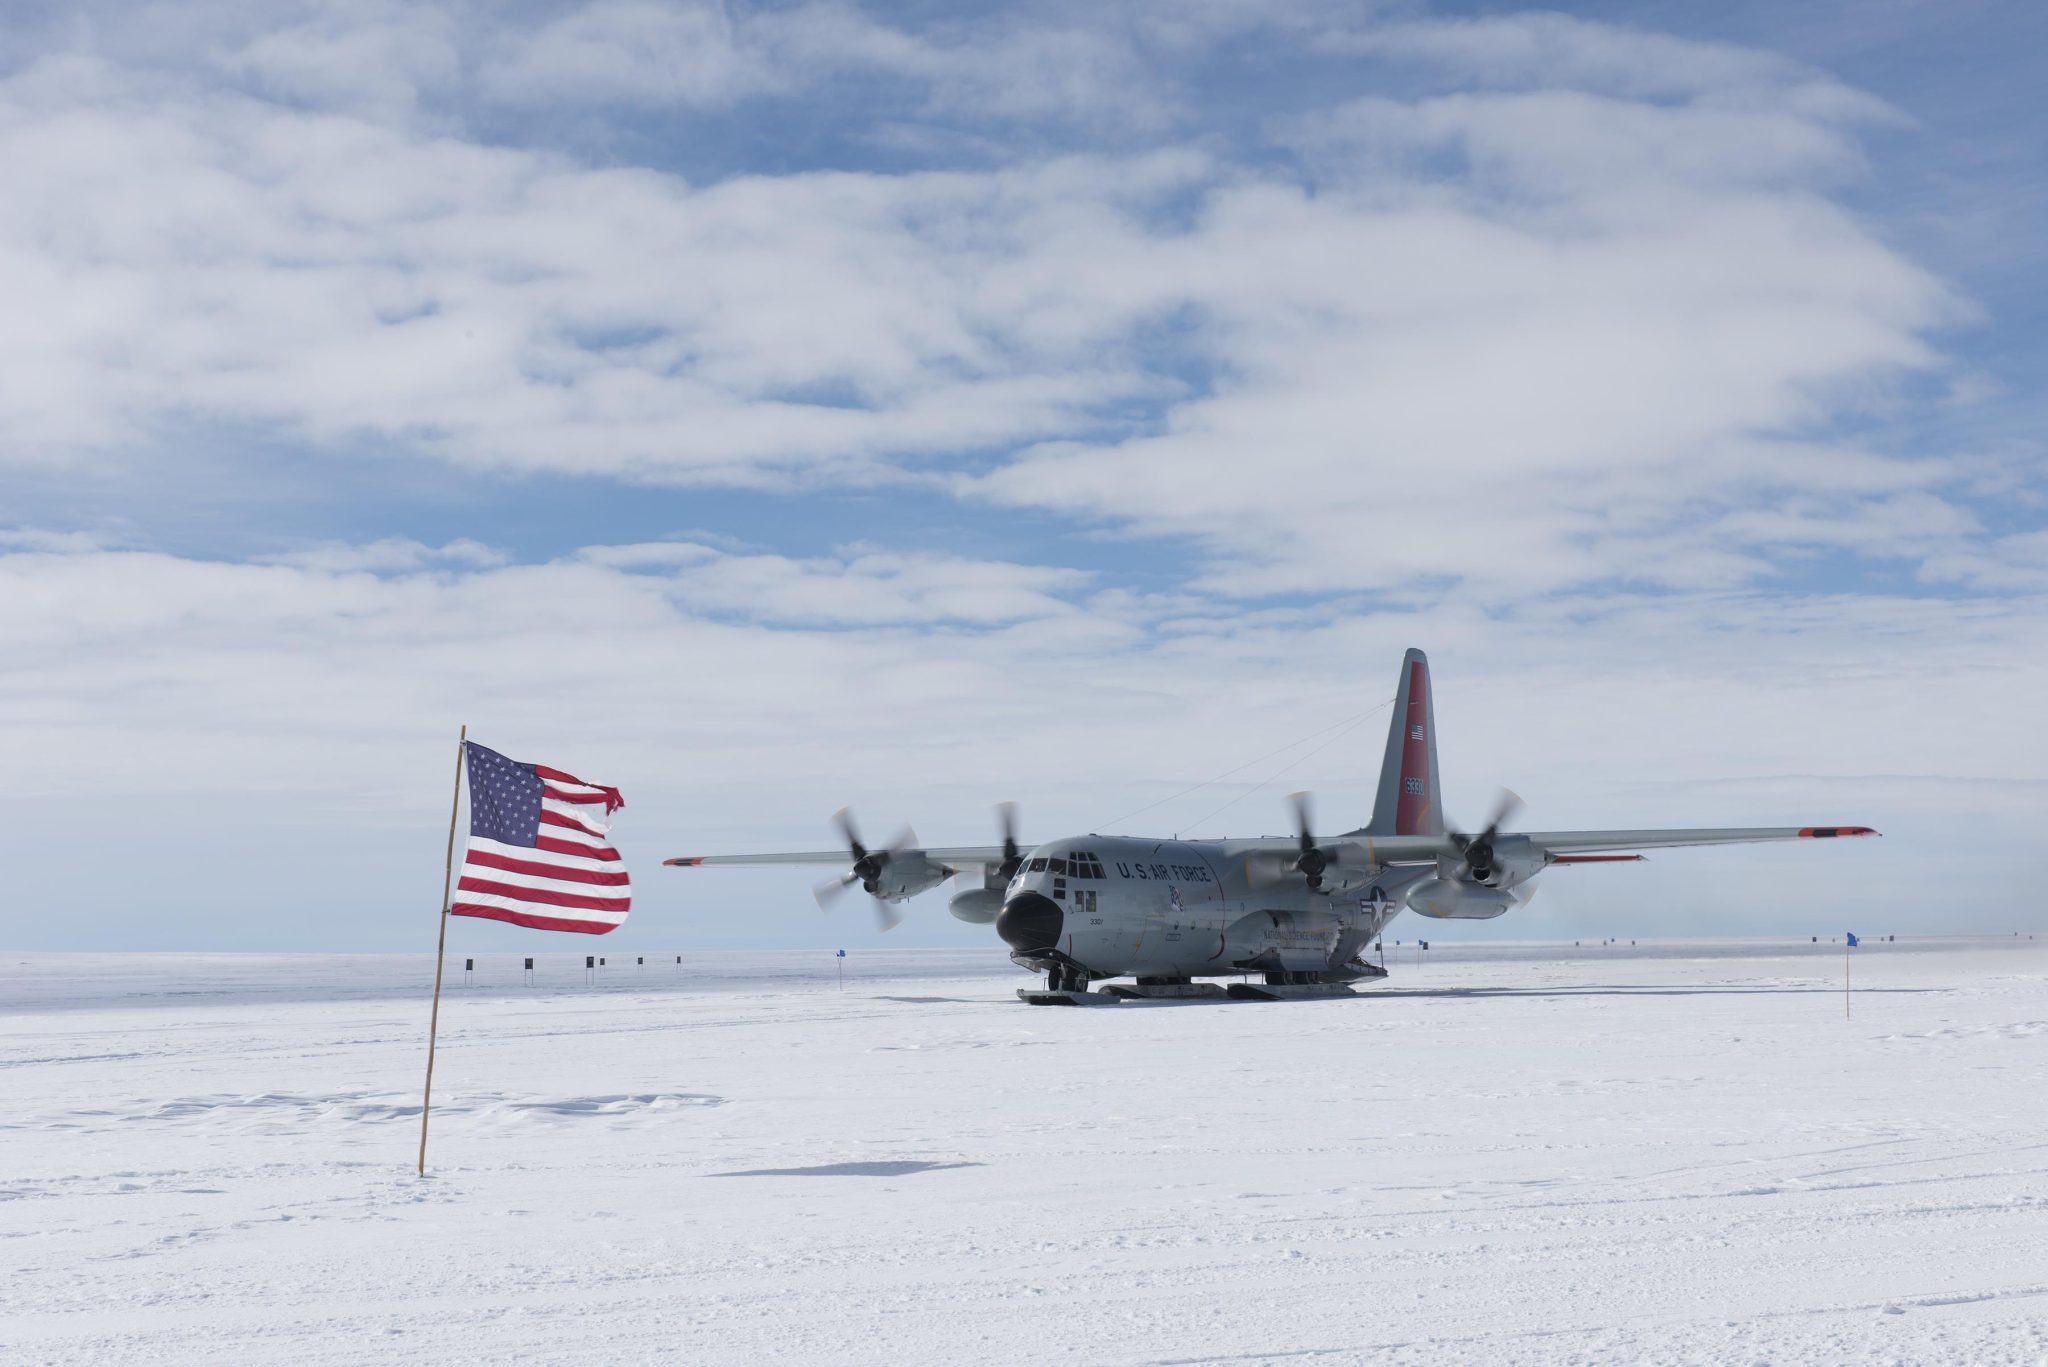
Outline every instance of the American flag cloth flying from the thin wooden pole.
[(604, 842), (618, 789), (465, 744), (469, 844), (449, 912), (586, 935), (625, 924), (633, 885)]

